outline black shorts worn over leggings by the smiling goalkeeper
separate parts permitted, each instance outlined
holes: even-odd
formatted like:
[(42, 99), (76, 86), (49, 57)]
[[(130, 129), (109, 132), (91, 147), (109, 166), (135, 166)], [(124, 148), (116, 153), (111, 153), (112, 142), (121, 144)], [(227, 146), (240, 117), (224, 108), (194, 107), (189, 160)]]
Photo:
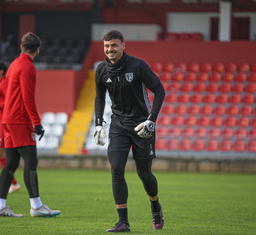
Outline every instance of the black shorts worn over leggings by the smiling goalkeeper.
[(110, 124), (107, 153), (112, 151), (126, 151), (129, 153), (132, 146), (134, 160), (151, 160), (156, 158), (155, 140), (155, 133), (151, 138), (142, 138), (138, 136), (137, 131)]

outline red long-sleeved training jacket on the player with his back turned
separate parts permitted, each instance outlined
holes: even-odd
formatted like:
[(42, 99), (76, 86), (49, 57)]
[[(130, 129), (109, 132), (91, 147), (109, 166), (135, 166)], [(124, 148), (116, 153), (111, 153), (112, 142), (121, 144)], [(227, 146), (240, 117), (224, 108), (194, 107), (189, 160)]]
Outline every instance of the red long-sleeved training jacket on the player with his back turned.
[(41, 124), (35, 102), (36, 68), (30, 56), (21, 55), (6, 73), (3, 124)]

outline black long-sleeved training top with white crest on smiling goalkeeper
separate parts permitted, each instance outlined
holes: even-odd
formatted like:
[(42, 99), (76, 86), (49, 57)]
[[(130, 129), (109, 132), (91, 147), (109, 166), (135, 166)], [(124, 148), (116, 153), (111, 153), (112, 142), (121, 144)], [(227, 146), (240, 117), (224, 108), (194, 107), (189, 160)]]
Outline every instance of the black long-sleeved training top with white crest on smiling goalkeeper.
[[(121, 124), (125, 129), (134, 129), (149, 114), (156, 121), (164, 101), (164, 87), (159, 77), (150, 69), (144, 60), (134, 58), (124, 53), (122, 58), (112, 64), (108, 58), (97, 66), (95, 73), (96, 126), (102, 125), (105, 109), (106, 90), (112, 101), (112, 123)], [(152, 110), (146, 92), (148, 87), (154, 93)]]

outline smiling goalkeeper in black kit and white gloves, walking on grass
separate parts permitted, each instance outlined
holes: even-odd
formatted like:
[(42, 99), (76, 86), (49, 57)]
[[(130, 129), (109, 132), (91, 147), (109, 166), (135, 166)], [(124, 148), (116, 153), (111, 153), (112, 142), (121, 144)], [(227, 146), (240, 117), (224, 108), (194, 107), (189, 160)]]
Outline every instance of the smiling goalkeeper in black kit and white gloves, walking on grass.
[[(112, 229), (107, 229), (107, 233), (130, 231), (124, 168), (131, 146), (137, 173), (151, 202), (153, 229), (162, 229), (164, 217), (151, 165), (156, 158), (154, 129), (164, 101), (164, 87), (146, 62), (124, 52), (122, 33), (109, 31), (103, 40), (107, 58), (97, 66), (95, 73), (95, 143), (105, 145), (101, 138), (106, 136), (102, 123), (108, 90), (112, 101), (112, 116), (107, 156), (112, 172), (112, 192), (119, 215), (119, 222)], [(154, 93), (152, 109), (146, 87)]]

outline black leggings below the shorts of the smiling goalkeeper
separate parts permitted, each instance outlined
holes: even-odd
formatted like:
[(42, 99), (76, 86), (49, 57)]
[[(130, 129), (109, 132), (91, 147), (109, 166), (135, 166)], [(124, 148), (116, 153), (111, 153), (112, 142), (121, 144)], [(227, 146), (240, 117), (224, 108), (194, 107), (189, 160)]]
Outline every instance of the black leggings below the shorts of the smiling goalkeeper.
[[(112, 191), (115, 204), (126, 204), (128, 198), (127, 183), (124, 179), (124, 169), (127, 163), (126, 151), (112, 151), (108, 153), (112, 173)], [(152, 160), (135, 160), (137, 174), (142, 180), (147, 195), (155, 197), (158, 194), (156, 177), (151, 173)]]

